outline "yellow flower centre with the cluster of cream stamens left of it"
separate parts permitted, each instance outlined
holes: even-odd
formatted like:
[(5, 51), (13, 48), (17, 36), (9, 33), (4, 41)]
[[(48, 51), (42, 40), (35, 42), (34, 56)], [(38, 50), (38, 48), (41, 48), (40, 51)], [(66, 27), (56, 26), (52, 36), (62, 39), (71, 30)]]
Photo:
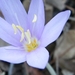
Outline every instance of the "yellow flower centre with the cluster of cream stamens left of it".
[(38, 47), (38, 40), (34, 37), (31, 37), (31, 33), (29, 30), (25, 32), (21, 26), (15, 24), (12, 24), (12, 27), (14, 29), (14, 34), (17, 34), (18, 30), (21, 32), (20, 42), (23, 41), (23, 47), (27, 52), (31, 52)]

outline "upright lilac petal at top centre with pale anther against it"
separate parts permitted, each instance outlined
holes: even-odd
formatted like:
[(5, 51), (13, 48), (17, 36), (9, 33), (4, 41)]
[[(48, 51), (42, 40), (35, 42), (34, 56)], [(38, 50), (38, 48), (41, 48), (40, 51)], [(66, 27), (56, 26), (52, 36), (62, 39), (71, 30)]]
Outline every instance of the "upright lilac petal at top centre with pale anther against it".
[[(28, 18), (31, 23), (32, 34), (40, 38), (45, 23), (43, 0), (31, 0)], [(36, 18), (36, 22), (32, 22), (34, 18)]]

